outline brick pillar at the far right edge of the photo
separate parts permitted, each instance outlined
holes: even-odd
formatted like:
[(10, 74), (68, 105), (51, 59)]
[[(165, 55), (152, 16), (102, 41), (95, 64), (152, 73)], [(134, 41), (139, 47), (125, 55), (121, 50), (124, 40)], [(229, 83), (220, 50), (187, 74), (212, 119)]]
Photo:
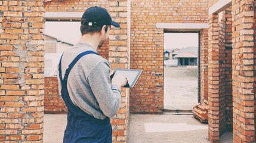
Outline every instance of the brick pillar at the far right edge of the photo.
[(233, 137), (255, 142), (254, 0), (232, 1)]

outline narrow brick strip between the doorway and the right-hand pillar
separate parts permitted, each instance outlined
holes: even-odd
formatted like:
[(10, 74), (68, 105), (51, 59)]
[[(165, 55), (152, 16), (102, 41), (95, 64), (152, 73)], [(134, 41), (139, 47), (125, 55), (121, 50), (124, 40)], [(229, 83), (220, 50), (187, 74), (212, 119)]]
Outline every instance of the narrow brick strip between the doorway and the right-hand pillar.
[(208, 100), (208, 29), (201, 31), (201, 103)]

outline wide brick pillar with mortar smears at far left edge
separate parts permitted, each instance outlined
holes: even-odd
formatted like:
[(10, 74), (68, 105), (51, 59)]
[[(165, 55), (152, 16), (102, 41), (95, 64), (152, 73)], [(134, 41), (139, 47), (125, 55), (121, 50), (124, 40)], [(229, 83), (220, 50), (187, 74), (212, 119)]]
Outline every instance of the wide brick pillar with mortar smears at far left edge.
[(42, 142), (44, 0), (0, 1), (0, 142)]

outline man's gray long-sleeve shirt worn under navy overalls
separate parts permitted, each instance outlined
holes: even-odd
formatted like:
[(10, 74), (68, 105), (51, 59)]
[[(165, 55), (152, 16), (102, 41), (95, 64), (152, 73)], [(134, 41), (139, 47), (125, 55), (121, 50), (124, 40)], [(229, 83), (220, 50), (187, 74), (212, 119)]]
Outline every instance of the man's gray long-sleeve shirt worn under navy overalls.
[[(96, 52), (86, 43), (76, 43), (64, 52), (61, 60), (62, 78), (73, 59), (84, 51)], [(58, 83), (61, 91), (59, 77)], [(111, 85), (110, 63), (99, 55), (85, 55), (73, 66), (67, 79), (67, 90), (73, 104), (97, 119), (113, 117), (118, 112), (121, 87)]]

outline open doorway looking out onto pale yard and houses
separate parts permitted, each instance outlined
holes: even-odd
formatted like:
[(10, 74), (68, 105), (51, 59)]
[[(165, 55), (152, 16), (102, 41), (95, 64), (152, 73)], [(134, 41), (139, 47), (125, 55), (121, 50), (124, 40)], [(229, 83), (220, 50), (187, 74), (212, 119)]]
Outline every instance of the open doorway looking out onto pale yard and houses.
[(192, 110), (200, 101), (200, 33), (164, 33), (164, 110)]

